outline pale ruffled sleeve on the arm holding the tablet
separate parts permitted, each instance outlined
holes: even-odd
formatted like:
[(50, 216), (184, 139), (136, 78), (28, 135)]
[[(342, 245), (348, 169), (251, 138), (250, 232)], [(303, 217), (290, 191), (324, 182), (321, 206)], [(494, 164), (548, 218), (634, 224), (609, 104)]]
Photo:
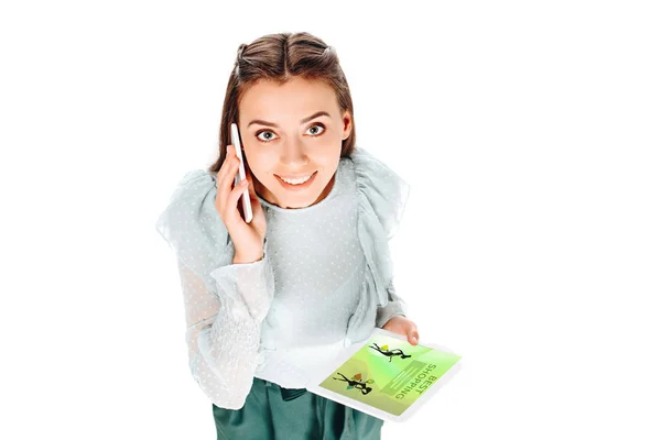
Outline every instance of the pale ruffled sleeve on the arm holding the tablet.
[(351, 154), (358, 190), (359, 233), (377, 289), (376, 326), (407, 316), (408, 305), (394, 287), (389, 241), (395, 235), (410, 195), (410, 185), (365, 148)]

